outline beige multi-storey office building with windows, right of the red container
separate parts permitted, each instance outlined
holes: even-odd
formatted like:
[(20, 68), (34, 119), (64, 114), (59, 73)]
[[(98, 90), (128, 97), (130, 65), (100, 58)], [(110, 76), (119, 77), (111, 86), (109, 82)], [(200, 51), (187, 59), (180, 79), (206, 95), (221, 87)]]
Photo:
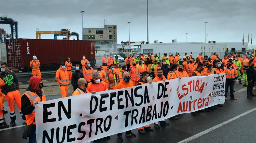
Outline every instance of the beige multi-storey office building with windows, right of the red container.
[[(94, 40), (98, 53), (116, 52), (117, 50), (117, 25), (105, 25), (101, 28), (84, 28), (83, 40)], [(100, 54), (102, 55), (102, 54)]]

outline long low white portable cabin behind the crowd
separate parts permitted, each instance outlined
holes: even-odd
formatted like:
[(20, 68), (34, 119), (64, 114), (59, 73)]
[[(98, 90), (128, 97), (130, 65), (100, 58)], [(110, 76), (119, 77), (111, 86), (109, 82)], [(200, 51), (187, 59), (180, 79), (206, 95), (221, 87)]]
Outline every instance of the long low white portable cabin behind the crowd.
[[(183, 57), (185, 53), (190, 55), (192, 53), (193, 57), (196, 58), (199, 53), (203, 53), (203, 56), (207, 55), (208, 57), (212, 56), (213, 53), (219, 55), (220, 58), (223, 58), (226, 51), (225, 44), (215, 44), (215, 43), (194, 43), (194, 42), (185, 42), (185, 43), (153, 43), (153, 44), (142, 44), (141, 53), (148, 55), (149, 52), (155, 54), (157, 53), (158, 57), (161, 58), (163, 53), (171, 52), (174, 56), (176, 53), (180, 53), (180, 56)], [(159, 55), (160, 53), (160, 55)]]

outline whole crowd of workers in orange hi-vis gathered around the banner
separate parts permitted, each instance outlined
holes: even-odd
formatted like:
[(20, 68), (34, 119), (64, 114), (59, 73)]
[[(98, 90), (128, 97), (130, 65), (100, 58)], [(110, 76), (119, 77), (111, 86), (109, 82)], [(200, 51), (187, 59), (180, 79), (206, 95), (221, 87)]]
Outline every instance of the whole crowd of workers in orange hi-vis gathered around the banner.
[[(96, 93), (108, 90), (121, 89), (126, 87), (138, 86), (141, 84), (147, 84), (158, 81), (165, 81), (175, 78), (183, 78), (190, 76), (207, 76), (211, 74), (226, 73), (226, 87), (225, 87), (225, 100), (227, 100), (227, 92), (230, 89), (230, 99), (237, 100), (234, 97), (234, 83), (237, 78), (240, 84), (242, 84), (241, 75), (244, 77), (244, 86), (247, 86), (247, 98), (255, 96), (252, 93), (254, 82), (256, 81), (256, 74), (254, 65), (256, 59), (254, 55), (250, 56), (245, 54), (242, 58), (236, 53), (226, 55), (220, 61), (218, 54), (212, 56), (203, 56), (200, 53), (196, 58), (193, 55), (187, 55), (181, 57), (179, 53), (175, 56), (170, 52), (164, 53), (163, 57), (157, 56), (157, 53), (153, 56), (148, 53), (147, 56), (141, 54), (138, 57), (134, 55), (127, 55), (125, 58), (125, 65), (120, 65), (115, 60), (113, 55), (107, 57), (104, 55), (102, 58), (102, 66), (98, 65), (97, 70), (91, 68), (90, 62), (86, 60), (85, 56), (81, 61), (82, 71), (80, 65), (75, 65), (75, 71), (72, 73), (72, 63), (70, 58), (66, 59), (65, 63), (60, 63), (59, 70), (56, 71), (56, 81), (59, 84), (62, 98), (67, 97), (69, 80), (71, 80), (73, 86), (73, 94), (81, 95), (87, 93)], [(16, 115), (14, 111), (14, 101), (18, 106), (22, 119), (26, 120), (27, 125), (32, 125), (32, 134), (29, 136), (29, 142), (36, 142), (35, 135), (35, 104), (38, 102), (46, 101), (43, 88), (43, 82), (39, 70), (40, 62), (36, 56), (30, 62), (32, 68), (33, 77), (29, 80), (29, 87), (26, 92), (21, 96), (19, 81), (15, 73), (8, 69), (6, 63), (1, 64), (0, 73), (0, 127), (9, 127), (4, 122), (3, 114), (7, 113), (4, 110), (4, 100), (6, 98), (10, 110), (10, 125), (15, 123)], [(108, 70), (107, 70), (108, 69)], [(150, 74), (152, 74), (152, 82)], [(216, 105), (222, 107), (222, 105)], [(199, 112), (210, 112), (217, 107), (209, 107), (204, 110), (193, 112), (193, 115), (197, 115)], [(183, 116), (183, 114), (178, 114)], [(178, 116), (170, 117), (169, 119), (177, 120)], [(165, 120), (159, 121), (160, 124), (169, 125)], [(158, 122), (154, 123), (155, 128), (160, 128)], [(145, 127), (138, 128), (138, 132), (145, 134), (145, 130), (153, 131), (154, 129), (147, 125)], [(126, 136), (135, 137), (131, 131), (125, 133)], [(117, 134), (117, 139), (122, 141), (122, 133)]]

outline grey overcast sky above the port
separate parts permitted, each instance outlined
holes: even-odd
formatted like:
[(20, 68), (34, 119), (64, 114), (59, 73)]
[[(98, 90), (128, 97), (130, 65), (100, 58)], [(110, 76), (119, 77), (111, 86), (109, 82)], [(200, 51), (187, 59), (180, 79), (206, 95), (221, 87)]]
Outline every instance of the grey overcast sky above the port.
[[(253, 45), (255, 32), (255, 0), (149, 0), (149, 41), (245, 42)], [(118, 44), (121, 41), (147, 41), (147, 0), (2, 0), (0, 15), (17, 20), (19, 38), (36, 38), (40, 31), (58, 31), (68, 28), (82, 39), (82, 13), (84, 27), (117, 25)], [(7, 28), (0, 25), (0, 28)], [(10, 33), (10, 29), (8, 28)], [(41, 35), (54, 39), (53, 35)], [(73, 39), (75, 37), (71, 37)], [(62, 39), (62, 37), (58, 37)]]

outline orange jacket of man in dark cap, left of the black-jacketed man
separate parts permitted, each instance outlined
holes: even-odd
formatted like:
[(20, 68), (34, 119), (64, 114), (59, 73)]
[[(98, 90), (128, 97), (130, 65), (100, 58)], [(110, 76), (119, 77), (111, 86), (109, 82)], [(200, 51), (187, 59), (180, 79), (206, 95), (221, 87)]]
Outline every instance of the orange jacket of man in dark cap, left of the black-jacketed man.
[(69, 80), (68, 80), (68, 73), (67, 73), (67, 71), (65, 69), (62, 69), (62, 67), (60, 67), (60, 69), (58, 69), (56, 71), (55, 80), (57, 82), (59, 82), (59, 85), (68, 85), (69, 84)]

